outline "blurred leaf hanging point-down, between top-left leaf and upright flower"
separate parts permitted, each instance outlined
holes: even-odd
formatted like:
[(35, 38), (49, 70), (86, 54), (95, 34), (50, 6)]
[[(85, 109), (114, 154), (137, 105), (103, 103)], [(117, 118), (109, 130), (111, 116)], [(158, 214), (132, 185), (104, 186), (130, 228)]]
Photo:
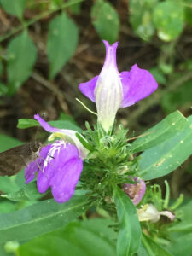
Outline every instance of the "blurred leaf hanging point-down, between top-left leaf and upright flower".
[(64, 12), (51, 20), (47, 42), (50, 79), (53, 79), (73, 56), (77, 44), (78, 27), (73, 20), (69, 19)]

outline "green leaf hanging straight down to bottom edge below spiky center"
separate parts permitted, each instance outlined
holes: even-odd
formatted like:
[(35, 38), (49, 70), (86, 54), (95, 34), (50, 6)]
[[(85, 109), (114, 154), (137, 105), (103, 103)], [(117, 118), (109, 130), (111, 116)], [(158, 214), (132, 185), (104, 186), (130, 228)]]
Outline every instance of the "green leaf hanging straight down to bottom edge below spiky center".
[(137, 253), (142, 235), (136, 207), (129, 196), (118, 187), (114, 191), (114, 201), (119, 219), (117, 253), (118, 256), (131, 256)]

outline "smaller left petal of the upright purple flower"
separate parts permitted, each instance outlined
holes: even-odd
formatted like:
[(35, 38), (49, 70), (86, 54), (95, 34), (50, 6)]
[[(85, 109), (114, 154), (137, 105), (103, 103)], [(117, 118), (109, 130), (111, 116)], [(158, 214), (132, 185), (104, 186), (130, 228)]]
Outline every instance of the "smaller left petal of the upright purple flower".
[(96, 102), (94, 90), (96, 88), (96, 82), (98, 78), (99, 76), (96, 76), (95, 78), (91, 79), (86, 83), (79, 84), (79, 90), (84, 94), (84, 96), (88, 97), (92, 102)]

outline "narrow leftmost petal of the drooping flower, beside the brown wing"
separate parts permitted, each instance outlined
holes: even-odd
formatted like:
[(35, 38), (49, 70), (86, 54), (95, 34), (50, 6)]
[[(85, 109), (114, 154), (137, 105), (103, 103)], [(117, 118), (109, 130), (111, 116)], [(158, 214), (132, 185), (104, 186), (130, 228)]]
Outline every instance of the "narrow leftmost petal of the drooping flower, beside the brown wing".
[(25, 168), (26, 184), (30, 183), (35, 178), (35, 173), (38, 172), (39, 168), (41, 168), (42, 165), (44, 164), (44, 159), (46, 158), (50, 147), (51, 145), (49, 144), (41, 148), (38, 159), (32, 161), (28, 166), (26, 166)]

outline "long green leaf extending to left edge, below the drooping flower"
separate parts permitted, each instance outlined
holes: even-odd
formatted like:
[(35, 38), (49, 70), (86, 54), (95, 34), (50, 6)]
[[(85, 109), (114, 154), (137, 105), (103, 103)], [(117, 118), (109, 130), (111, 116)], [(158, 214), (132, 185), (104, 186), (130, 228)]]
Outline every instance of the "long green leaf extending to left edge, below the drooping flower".
[(0, 215), (0, 243), (26, 241), (57, 230), (82, 214), (89, 203), (81, 195), (63, 204), (50, 199), (20, 211)]

